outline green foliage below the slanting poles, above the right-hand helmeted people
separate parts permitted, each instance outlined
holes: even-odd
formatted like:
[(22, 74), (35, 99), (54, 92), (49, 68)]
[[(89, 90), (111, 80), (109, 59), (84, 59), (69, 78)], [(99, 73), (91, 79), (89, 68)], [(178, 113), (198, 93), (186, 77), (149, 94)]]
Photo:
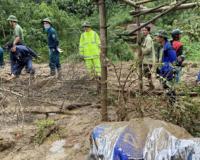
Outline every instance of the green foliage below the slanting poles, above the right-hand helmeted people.
[(179, 28), (183, 31), (181, 42), (184, 44), (186, 60), (200, 60), (199, 13), (199, 7), (185, 11), (176, 11), (169, 14), (169, 16), (164, 16), (156, 23), (160, 29), (165, 29), (169, 33), (176, 28)]

